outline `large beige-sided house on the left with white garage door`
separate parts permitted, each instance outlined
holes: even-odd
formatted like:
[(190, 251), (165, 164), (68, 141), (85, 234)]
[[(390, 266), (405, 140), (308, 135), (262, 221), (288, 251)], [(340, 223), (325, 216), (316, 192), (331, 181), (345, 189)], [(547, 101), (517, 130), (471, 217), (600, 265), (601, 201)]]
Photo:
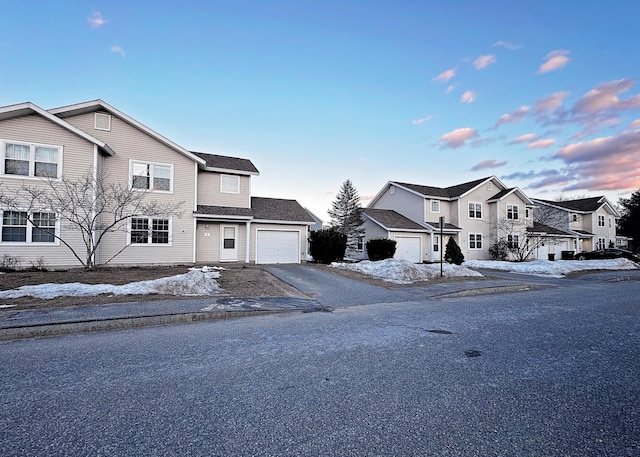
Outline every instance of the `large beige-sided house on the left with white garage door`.
[[(145, 189), (148, 199), (183, 202), (180, 217), (140, 215), (126, 232), (109, 234), (98, 265), (116, 254), (111, 263), (121, 265), (305, 259), (314, 220), (295, 200), (252, 197), (251, 177), (259, 173), (250, 160), (188, 151), (102, 100), (52, 110), (33, 103), (0, 107), (0, 154), (3, 191), (38, 186), (41, 176), (102, 171), (111, 182)], [(3, 210), (0, 257), (78, 264), (59, 240), (35, 237), (24, 217)], [(55, 214), (45, 216), (56, 234), (82, 250), (79, 233), (64, 233)]]

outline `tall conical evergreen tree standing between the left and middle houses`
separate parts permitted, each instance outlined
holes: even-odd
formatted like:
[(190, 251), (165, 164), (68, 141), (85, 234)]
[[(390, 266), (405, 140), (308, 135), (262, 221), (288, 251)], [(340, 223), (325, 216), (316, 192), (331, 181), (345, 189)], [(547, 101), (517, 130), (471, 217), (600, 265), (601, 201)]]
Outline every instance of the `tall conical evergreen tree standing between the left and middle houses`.
[(362, 228), (364, 220), (362, 219), (360, 196), (351, 180), (347, 179), (342, 184), (328, 213), (331, 216), (331, 227), (347, 236), (347, 250), (356, 250), (358, 238), (364, 234)]

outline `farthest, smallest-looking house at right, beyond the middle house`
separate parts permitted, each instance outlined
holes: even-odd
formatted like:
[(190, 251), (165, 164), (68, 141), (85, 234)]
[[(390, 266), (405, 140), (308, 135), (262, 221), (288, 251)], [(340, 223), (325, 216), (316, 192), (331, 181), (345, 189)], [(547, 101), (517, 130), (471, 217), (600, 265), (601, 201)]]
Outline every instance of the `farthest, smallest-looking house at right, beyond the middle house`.
[(616, 235), (620, 213), (606, 197), (560, 202), (532, 200), (538, 207), (534, 215), (536, 221), (567, 233), (565, 239), (559, 240), (560, 250), (592, 251), (619, 245), (622, 241)]

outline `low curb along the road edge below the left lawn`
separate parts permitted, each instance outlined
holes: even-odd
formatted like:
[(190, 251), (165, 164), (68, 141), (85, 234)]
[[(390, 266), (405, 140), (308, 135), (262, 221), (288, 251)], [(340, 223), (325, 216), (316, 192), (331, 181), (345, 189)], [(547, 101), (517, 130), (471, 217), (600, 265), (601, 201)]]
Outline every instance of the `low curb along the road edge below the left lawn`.
[(218, 319), (233, 319), (245, 316), (260, 316), (301, 311), (298, 309), (256, 310), (256, 311), (217, 311), (162, 314), (154, 316), (122, 317), (102, 320), (40, 324), (0, 329), (0, 341), (20, 340), (42, 336), (70, 335), (105, 330), (123, 330), (130, 328), (152, 327), (172, 324), (190, 324)]

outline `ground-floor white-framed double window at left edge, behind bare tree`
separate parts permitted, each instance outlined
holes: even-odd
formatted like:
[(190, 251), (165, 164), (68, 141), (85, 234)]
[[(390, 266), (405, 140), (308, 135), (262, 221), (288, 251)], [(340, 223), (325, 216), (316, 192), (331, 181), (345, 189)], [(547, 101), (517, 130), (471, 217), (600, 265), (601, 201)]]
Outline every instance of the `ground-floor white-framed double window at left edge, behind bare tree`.
[(26, 211), (2, 212), (2, 241), (5, 243), (55, 243), (56, 215)]

